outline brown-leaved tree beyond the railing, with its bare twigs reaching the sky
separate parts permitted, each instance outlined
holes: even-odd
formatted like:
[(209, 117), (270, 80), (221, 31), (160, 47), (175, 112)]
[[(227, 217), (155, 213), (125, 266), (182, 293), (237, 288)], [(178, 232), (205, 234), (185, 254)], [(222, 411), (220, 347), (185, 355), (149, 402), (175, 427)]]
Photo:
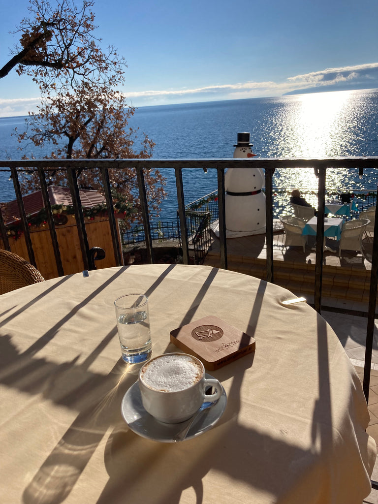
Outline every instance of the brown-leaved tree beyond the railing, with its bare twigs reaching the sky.
[[(50, 4), (55, 4), (51, 7)], [(148, 158), (155, 145), (144, 133), (129, 127), (135, 108), (116, 88), (124, 83), (125, 61), (113, 47), (104, 53), (93, 35), (93, 2), (78, 9), (73, 0), (30, 0), (33, 19), (21, 21), (17, 72), (32, 76), (39, 86), (41, 105), (29, 113), (20, 145), (52, 146), (46, 158)], [(37, 42), (35, 42), (37, 40)], [(137, 147), (139, 145), (139, 147)], [(21, 147), (22, 150), (22, 147)], [(110, 170), (115, 194), (136, 210), (139, 195), (134, 169)], [(165, 180), (157, 170), (145, 175), (150, 210), (157, 213), (164, 198)], [(63, 171), (50, 174), (49, 183), (65, 184)], [(79, 174), (82, 187), (102, 190), (95, 170)], [(39, 187), (37, 176), (22, 180), (28, 191)]]

